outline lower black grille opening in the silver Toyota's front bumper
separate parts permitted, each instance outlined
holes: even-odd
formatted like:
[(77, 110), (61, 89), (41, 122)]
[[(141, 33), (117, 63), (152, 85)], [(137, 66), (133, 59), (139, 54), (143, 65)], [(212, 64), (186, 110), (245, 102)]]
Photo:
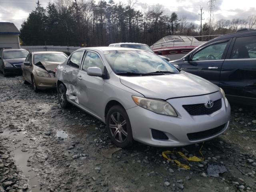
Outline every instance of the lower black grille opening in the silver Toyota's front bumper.
[(201, 139), (208, 138), (208, 137), (218, 134), (219, 132), (221, 132), (223, 130), (224, 127), (225, 127), (225, 124), (218, 126), (216, 128), (213, 128), (213, 129), (205, 130), (205, 131), (200, 131), (200, 132), (196, 132), (196, 133), (188, 133), (187, 136), (190, 141), (201, 140)]

